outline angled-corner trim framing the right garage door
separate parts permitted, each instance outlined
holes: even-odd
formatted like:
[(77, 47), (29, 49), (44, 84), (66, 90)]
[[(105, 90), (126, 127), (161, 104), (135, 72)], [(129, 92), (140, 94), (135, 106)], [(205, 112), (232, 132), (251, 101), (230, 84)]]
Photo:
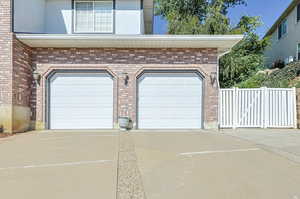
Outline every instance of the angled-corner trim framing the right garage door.
[[(173, 70), (169, 70), (169, 69), (162, 69), (162, 70), (159, 70), (159, 69), (144, 69), (142, 71), (140, 71), (139, 74), (137, 74), (136, 76), (136, 128), (139, 129), (139, 80), (141, 77), (143, 77), (143, 75), (147, 74), (147, 73), (171, 73), (171, 74), (182, 74), (182, 73), (185, 73), (185, 74), (190, 74), (190, 73), (195, 73), (197, 74), (201, 79), (202, 79), (202, 96), (201, 96), (201, 102), (202, 102), (202, 105), (201, 105), (201, 126), (202, 128), (204, 128), (204, 121), (205, 121), (205, 93), (206, 93), (206, 78), (205, 76), (202, 74), (202, 72), (198, 69), (173, 69)], [(172, 130), (172, 129), (170, 129)]]

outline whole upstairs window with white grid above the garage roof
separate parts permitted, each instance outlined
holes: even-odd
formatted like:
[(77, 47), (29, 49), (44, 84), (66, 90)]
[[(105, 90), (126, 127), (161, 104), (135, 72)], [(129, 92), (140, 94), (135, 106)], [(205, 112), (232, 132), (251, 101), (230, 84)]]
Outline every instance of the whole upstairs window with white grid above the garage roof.
[(74, 31), (76, 33), (113, 33), (112, 0), (75, 0)]

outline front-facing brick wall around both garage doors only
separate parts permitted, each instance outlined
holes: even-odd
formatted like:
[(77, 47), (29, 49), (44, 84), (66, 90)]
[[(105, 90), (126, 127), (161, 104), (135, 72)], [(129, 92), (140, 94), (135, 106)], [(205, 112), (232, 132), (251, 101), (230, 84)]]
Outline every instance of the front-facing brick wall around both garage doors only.
[[(217, 70), (216, 49), (54, 49), (37, 48), (32, 51), (34, 67), (45, 78), (54, 69), (105, 69), (116, 76), (115, 123), (118, 116), (128, 115), (136, 121), (136, 76), (147, 69), (199, 70), (205, 77), (204, 120), (207, 126), (217, 124), (218, 92), (210, 82), (211, 72)], [(128, 86), (123, 83), (124, 73), (130, 77)], [(45, 79), (34, 88), (31, 107), (36, 120), (43, 128), (45, 122)]]

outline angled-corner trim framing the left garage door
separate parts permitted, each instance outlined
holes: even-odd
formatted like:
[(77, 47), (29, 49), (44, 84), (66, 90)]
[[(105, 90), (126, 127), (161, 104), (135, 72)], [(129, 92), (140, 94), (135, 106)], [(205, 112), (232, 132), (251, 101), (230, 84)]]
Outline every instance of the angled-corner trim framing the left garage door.
[(52, 70), (49, 74), (47, 74), (47, 76), (45, 77), (45, 114), (44, 114), (44, 117), (45, 117), (45, 128), (46, 129), (50, 129), (50, 81), (51, 81), (51, 78), (55, 75), (55, 74), (62, 74), (62, 73), (69, 73), (69, 74), (76, 74), (76, 73), (85, 73), (85, 74), (88, 74), (88, 73), (104, 73), (104, 74), (107, 74), (109, 75), (111, 78), (112, 78), (112, 81), (113, 81), (113, 124), (114, 125), (114, 122), (115, 122), (115, 110), (116, 110), (116, 107), (115, 107), (115, 96), (116, 96), (116, 93), (115, 93), (115, 80), (116, 80), (116, 77), (114, 74), (112, 74), (110, 71), (106, 70), (106, 69), (54, 69)]

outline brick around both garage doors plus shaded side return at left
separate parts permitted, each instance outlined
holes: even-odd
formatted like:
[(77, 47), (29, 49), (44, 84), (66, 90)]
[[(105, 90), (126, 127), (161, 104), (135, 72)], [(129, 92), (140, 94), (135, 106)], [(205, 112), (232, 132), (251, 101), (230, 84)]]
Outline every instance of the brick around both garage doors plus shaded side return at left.
[[(45, 128), (46, 78), (56, 69), (106, 70), (115, 79), (114, 123), (118, 116), (128, 115), (136, 121), (136, 80), (144, 70), (197, 70), (204, 76), (204, 124), (217, 125), (217, 88), (210, 74), (217, 70), (216, 49), (53, 49), (29, 48), (18, 40), (13, 42), (13, 103), (30, 106), (31, 120), (36, 128)], [(41, 84), (32, 83), (32, 68), (42, 75)], [(123, 83), (124, 73), (130, 77)], [(30, 102), (29, 102), (30, 98)]]

